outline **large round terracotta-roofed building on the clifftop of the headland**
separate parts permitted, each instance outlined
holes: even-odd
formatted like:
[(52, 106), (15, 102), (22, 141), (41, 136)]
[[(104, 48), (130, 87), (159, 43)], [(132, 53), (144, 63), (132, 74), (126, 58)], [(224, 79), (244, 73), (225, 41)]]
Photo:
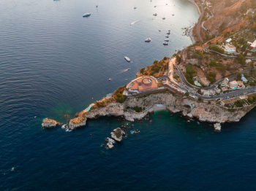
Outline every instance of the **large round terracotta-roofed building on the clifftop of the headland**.
[(155, 77), (143, 76), (133, 79), (127, 85), (128, 93), (143, 93), (147, 90), (157, 89), (158, 81)]

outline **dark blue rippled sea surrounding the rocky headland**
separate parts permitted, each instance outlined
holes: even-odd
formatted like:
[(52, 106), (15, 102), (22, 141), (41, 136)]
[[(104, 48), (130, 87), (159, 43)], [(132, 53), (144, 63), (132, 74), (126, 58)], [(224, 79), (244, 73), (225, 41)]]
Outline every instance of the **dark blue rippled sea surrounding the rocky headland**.
[(100, 145), (121, 119), (41, 129), (191, 44), (181, 28), (197, 18), (187, 0), (1, 0), (0, 190), (255, 190), (255, 110), (222, 133), (157, 112), (113, 150)]

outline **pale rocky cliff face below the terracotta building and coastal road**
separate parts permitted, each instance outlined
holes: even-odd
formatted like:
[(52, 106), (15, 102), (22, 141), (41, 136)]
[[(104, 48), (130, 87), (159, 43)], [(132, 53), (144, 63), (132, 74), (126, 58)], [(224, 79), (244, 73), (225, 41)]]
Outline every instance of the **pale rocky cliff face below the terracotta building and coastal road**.
[[(111, 103), (108, 106), (98, 109), (92, 109), (84, 114), (83, 117), (95, 119), (101, 116), (124, 117), (126, 120), (141, 120), (143, 117), (157, 109), (156, 104), (165, 105), (170, 112), (181, 112), (187, 117), (196, 117), (200, 121), (205, 122), (238, 122), (241, 117), (249, 112), (250, 109), (228, 111), (214, 103), (198, 102), (190, 98), (180, 98), (171, 93), (156, 93), (141, 98), (127, 98), (123, 104)], [(127, 107), (135, 106), (146, 108), (143, 112), (127, 112)]]

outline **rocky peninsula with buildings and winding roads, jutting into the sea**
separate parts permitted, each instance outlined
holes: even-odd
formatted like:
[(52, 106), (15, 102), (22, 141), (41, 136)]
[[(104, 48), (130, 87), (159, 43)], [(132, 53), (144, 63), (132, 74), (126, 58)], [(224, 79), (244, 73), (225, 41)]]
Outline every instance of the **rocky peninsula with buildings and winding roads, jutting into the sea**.
[(200, 11), (190, 32), (194, 44), (140, 69), (129, 84), (78, 112), (64, 128), (101, 116), (141, 120), (159, 109), (205, 122), (238, 122), (254, 108), (256, 1), (192, 2)]

